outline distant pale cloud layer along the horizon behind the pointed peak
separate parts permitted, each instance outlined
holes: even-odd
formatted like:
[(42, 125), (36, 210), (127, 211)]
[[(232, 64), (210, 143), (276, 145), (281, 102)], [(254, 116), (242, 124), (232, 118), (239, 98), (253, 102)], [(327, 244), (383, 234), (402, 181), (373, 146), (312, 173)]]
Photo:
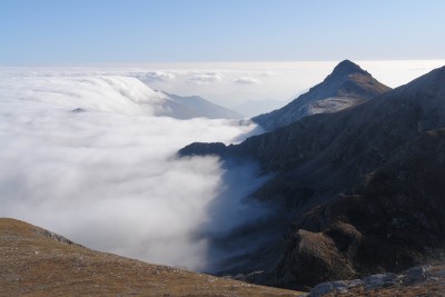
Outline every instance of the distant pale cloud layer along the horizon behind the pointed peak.
[[(345, 57), (348, 58), (348, 57)], [(349, 57), (350, 59), (350, 57)], [(140, 79), (151, 89), (180, 96), (201, 96), (214, 103), (246, 115), (237, 109), (248, 101), (277, 101), (273, 109), (295, 99), (303, 91), (319, 83), (339, 61), (289, 62), (221, 62), (221, 63), (150, 63), (110, 65), (101, 67), (34, 68), (34, 76), (127, 76)], [(355, 61), (377, 80), (398, 87), (434, 68), (445, 60), (385, 60)], [(23, 72), (21, 68), (0, 67), (1, 72)], [(243, 83), (244, 82), (244, 83)], [(250, 83), (246, 83), (250, 82)], [(257, 116), (257, 115), (254, 115)]]

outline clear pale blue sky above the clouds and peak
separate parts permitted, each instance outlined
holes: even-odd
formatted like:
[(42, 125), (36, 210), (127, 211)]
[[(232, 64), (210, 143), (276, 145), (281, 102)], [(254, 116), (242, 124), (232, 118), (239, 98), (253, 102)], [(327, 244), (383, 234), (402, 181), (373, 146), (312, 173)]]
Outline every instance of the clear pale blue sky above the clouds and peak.
[(444, 0), (0, 0), (0, 65), (445, 58)]

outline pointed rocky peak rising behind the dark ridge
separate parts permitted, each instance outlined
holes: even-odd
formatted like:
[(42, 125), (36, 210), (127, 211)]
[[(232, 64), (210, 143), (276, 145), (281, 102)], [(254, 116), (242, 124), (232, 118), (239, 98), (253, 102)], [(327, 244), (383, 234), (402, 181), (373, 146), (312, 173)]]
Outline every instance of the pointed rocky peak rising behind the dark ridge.
[(388, 87), (378, 82), (358, 65), (345, 60), (308, 92), (285, 107), (254, 117), (253, 120), (267, 130), (275, 130), (307, 116), (333, 113), (360, 105), (388, 90)]

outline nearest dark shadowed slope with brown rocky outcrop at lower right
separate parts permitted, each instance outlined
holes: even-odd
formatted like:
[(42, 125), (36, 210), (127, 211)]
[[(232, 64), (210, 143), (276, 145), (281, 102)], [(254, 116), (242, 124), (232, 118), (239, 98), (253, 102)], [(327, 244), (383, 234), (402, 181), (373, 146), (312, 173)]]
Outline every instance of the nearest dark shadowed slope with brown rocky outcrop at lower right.
[(290, 271), (303, 284), (315, 285), (441, 259), (445, 129), (419, 136), (367, 175), (355, 194), (340, 194), (294, 224), (277, 279)]

